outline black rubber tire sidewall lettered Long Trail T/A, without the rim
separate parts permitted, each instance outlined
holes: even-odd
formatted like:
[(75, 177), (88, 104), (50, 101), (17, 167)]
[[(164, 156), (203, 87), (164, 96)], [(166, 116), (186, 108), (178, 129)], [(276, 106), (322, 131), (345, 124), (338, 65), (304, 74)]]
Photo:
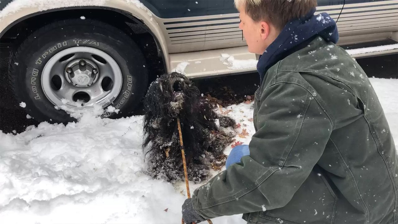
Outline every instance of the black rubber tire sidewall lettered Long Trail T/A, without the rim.
[[(84, 28), (91, 27), (86, 26)], [(118, 114), (115, 112), (104, 112), (101, 117), (116, 118), (129, 114), (136, 106), (135, 104), (138, 104), (141, 100), (148, 82), (144, 57), (139, 47), (125, 33), (119, 30), (117, 30), (119, 35), (114, 35), (115, 37), (109, 33), (111, 31), (105, 29), (101, 31), (101, 29), (96, 28), (96, 30), (88, 33), (79, 33), (76, 30), (78, 28), (71, 26), (53, 29), (44, 35), (34, 38), (29, 47), (27, 47), (27, 52), (23, 56), (27, 57), (25, 59), (27, 62), (25, 76), (21, 76), (23, 80), (17, 80), (17, 83), (24, 83), (24, 85), (17, 86), (20, 87), (22, 94), (26, 96), (25, 100), (30, 101), (30, 103), (27, 102), (27, 105), (31, 104), (29, 105), (31, 116), (38, 118), (38, 120), (50, 120), (53, 117), (53, 120), (58, 122), (75, 120), (68, 112), (59, 109), (47, 98), (41, 85), (42, 73), (46, 63), (51, 57), (70, 47), (96, 48), (107, 53), (116, 61), (122, 73), (122, 86), (119, 94), (109, 106), (119, 109), (120, 112)], [(104, 33), (109, 33), (109, 35), (104, 35)], [(119, 38), (116, 39), (117, 37)], [(43, 47), (37, 50), (33, 46)], [(31, 56), (29, 57), (29, 55)]]

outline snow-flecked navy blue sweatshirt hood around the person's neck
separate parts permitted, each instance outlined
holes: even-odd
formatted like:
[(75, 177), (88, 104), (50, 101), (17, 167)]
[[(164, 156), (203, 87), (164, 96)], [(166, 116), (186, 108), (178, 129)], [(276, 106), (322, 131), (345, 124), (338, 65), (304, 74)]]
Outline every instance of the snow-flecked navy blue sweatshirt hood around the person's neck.
[(337, 43), (339, 34), (336, 22), (326, 12), (318, 15), (314, 15), (314, 12), (315, 8), (303, 18), (288, 22), (275, 41), (260, 56), (257, 71), (261, 82), (270, 67), (293, 52), (304, 48), (316, 36), (319, 35), (327, 41)]

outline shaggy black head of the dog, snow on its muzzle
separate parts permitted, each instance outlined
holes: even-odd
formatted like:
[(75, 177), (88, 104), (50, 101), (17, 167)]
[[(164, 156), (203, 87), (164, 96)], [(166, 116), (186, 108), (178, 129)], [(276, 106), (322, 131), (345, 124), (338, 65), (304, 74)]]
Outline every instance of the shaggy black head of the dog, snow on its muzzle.
[(152, 103), (163, 104), (162, 108), (156, 109), (166, 110), (163, 112), (171, 117), (176, 117), (184, 107), (189, 107), (188, 104), (196, 103), (199, 96), (199, 89), (178, 72), (167, 73), (156, 79), (150, 91), (156, 92), (156, 102)]

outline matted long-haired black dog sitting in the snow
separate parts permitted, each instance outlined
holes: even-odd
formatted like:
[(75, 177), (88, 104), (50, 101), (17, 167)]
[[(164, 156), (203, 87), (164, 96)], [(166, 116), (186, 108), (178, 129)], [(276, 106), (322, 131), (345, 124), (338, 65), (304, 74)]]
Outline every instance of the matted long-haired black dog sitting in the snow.
[[(236, 124), (232, 118), (220, 116), (213, 109), (199, 89), (181, 73), (164, 74), (151, 83), (144, 98), (143, 149), (148, 146), (146, 153), (152, 177), (169, 182), (184, 178), (177, 117), (189, 180), (198, 183), (210, 176), (211, 163), (223, 155), (225, 146), (232, 142)], [(228, 127), (232, 132), (228, 132)]]

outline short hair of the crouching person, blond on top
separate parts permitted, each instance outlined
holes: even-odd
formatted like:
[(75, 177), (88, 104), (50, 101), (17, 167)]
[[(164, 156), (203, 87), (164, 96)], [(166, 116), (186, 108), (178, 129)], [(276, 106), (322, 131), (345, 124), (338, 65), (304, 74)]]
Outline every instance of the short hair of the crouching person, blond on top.
[(316, 0), (234, 0), (235, 7), (245, 9), (246, 14), (259, 22), (270, 22), (281, 30), (287, 22), (305, 16), (317, 6)]

